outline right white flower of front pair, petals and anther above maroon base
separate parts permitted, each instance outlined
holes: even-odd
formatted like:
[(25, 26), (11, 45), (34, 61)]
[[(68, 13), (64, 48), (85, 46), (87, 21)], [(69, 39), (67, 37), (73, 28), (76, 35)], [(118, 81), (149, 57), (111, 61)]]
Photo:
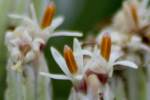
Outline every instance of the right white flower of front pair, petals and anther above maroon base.
[(108, 74), (109, 77), (112, 77), (113, 67), (116, 65), (137, 68), (137, 65), (131, 61), (118, 60), (121, 54), (111, 52), (111, 39), (108, 33), (103, 34), (100, 46), (101, 48), (95, 47), (91, 61), (86, 68), (89, 66), (92, 71)]

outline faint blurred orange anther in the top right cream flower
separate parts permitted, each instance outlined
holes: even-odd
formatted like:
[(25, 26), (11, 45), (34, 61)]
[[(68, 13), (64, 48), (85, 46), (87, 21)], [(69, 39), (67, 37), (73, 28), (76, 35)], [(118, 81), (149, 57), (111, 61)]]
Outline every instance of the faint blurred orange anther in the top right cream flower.
[(135, 4), (131, 3), (130, 5), (130, 13), (136, 25), (138, 25), (138, 13), (137, 7)]

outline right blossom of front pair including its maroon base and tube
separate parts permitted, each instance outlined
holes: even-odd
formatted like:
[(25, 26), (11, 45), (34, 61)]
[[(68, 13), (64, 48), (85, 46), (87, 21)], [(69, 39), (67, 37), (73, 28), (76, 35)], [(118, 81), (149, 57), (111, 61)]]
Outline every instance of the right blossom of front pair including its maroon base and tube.
[[(101, 44), (99, 48), (96, 46), (92, 58), (86, 65), (86, 75), (96, 75), (99, 80), (99, 89), (97, 94), (101, 94), (101, 98), (106, 91), (108, 79), (112, 77), (115, 66), (127, 66), (130, 68), (137, 68), (137, 65), (128, 60), (119, 60), (121, 54), (111, 51), (111, 37), (108, 33), (102, 34)], [(111, 94), (111, 93), (109, 93)], [(107, 95), (108, 96), (108, 95)]]

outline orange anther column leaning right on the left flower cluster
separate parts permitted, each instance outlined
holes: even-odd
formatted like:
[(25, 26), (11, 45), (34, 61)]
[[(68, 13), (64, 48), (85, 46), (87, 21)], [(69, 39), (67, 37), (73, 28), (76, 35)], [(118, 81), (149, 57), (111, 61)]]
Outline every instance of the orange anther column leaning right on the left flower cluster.
[(52, 22), (53, 16), (55, 14), (55, 4), (52, 2), (50, 3), (44, 12), (44, 16), (41, 22), (41, 27), (42, 28), (46, 28), (47, 26), (49, 26)]

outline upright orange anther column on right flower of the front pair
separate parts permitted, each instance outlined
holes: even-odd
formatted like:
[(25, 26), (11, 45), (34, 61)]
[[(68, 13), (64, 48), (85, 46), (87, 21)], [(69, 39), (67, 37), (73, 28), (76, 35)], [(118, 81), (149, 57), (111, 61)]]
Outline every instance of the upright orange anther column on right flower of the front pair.
[(104, 33), (101, 42), (101, 55), (108, 61), (111, 52), (111, 37), (109, 33)]

